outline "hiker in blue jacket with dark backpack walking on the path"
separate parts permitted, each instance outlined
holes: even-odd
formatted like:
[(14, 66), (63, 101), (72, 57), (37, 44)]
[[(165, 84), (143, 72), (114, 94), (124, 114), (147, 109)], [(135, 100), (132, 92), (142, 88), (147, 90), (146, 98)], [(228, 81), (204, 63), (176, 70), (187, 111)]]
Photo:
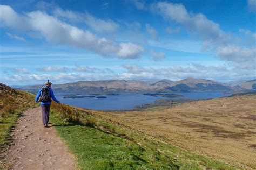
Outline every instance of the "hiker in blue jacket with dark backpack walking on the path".
[(41, 102), (41, 109), (42, 109), (42, 119), (44, 127), (48, 127), (49, 122), (49, 116), (50, 116), (50, 107), (51, 107), (51, 98), (56, 103), (60, 104), (60, 101), (58, 101), (54, 94), (53, 90), (51, 89), (51, 82), (46, 81), (45, 86), (43, 86), (36, 95), (36, 103)]

